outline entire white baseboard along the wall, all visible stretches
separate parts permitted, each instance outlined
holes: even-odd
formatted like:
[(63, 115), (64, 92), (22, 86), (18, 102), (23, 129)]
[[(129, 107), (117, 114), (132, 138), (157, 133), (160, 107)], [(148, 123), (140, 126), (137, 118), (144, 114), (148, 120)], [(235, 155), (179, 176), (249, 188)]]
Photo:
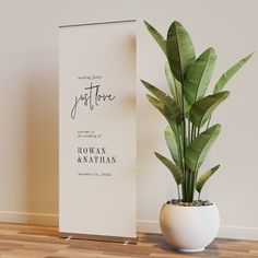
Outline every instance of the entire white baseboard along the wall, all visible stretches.
[[(58, 226), (58, 214), (0, 211), (0, 221)], [(138, 220), (137, 231), (160, 234), (160, 223), (159, 221)], [(221, 225), (218, 236), (222, 238), (258, 241), (258, 227)]]

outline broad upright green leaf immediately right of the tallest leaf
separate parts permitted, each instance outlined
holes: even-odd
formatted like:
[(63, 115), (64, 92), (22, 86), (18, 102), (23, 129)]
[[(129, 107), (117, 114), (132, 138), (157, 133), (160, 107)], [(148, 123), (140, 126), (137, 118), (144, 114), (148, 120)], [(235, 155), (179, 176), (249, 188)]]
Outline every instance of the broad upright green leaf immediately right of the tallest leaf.
[(189, 68), (184, 84), (184, 93), (190, 105), (204, 96), (214, 70), (215, 59), (214, 49), (208, 48)]

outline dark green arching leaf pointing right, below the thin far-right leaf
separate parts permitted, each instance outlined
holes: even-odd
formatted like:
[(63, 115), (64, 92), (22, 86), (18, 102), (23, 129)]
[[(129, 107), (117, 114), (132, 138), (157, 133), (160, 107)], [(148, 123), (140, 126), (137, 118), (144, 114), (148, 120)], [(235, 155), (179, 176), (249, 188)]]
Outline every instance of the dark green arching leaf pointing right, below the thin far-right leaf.
[(206, 96), (196, 102), (190, 108), (190, 120), (197, 127), (201, 128), (210, 118), (213, 110), (226, 98), (230, 92), (220, 92)]

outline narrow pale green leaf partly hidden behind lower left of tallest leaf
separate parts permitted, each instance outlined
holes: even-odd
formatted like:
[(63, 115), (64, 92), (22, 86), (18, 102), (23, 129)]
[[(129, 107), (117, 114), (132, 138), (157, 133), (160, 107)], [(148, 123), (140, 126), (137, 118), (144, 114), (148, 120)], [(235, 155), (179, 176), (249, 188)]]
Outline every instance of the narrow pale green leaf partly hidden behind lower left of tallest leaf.
[(169, 67), (168, 61), (166, 61), (166, 64), (165, 64), (165, 73), (166, 73), (166, 81), (167, 81), (167, 84), (171, 89), (172, 95), (173, 95), (174, 99), (178, 103), (178, 105), (180, 105), (181, 84), (180, 84), (180, 82), (178, 82), (174, 78), (174, 75), (171, 71), (171, 67)]

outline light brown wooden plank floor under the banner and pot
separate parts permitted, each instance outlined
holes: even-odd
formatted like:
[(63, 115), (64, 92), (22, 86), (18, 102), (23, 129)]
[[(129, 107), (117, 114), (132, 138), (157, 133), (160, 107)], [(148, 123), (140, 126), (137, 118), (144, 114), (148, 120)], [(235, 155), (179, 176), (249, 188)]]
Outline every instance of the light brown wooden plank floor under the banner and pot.
[(0, 258), (258, 257), (258, 242), (215, 239), (203, 253), (180, 254), (161, 235), (139, 234), (137, 245), (63, 239), (56, 227), (0, 223)]

